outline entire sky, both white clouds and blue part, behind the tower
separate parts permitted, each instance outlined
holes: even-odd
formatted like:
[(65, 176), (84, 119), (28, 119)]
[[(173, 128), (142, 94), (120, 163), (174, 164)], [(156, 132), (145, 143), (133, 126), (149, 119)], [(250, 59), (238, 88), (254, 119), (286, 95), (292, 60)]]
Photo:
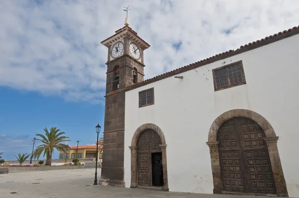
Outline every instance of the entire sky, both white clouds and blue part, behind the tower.
[(66, 132), (69, 145), (96, 141), (107, 69), (101, 41), (124, 26), (128, 5), (130, 27), (151, 45), (145, 80), (299, 25), (298, 0), (1, 0), (2, 158), (31, 153), (44, 127)]

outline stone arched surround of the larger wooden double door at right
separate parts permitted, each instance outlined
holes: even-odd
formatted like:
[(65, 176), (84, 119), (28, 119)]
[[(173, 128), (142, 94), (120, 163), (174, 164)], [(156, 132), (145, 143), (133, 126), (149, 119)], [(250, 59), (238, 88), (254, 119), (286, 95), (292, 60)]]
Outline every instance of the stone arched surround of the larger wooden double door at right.
[(278, 136), (271, 126), (271, 124), (259, 113), (248, 109), (232, 109), (222, 113), (212, 123), (209, 134), (207, 145), (210, 147), (211, 155), (211, 166), (213, 175), (213, 193), (222, 194), (222, 181), (221, 181), (221, 169), (218, 151), (217, 133), (222, 124), (234, 117), (246, 117), (256, 121), (264, 130), (266, 137), (264, 138), (269, 152), (271, 168), (273, 172), (276, 193), (278, 197), (289, 197), (286, 180), (283, 173), (283, 168), (279, 156), (277, 147)]

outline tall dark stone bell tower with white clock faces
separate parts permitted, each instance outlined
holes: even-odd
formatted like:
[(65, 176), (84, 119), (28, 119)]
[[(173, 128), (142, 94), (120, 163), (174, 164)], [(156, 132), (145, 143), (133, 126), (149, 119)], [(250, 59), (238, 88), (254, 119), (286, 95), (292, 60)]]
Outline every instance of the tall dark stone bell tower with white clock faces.
[(129, 27), (128, 16), (125, 26), (101, 44), (108, 48), (108, 61), (100, 184), (125, 187), (125, 88), (144, 80), (144, 50), (150, 45)]

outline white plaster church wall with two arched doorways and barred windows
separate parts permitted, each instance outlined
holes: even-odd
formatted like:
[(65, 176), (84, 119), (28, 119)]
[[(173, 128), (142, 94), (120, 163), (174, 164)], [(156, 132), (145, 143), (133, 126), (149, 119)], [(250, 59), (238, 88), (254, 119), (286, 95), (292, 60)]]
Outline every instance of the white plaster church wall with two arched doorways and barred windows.
[[(145, 123), (161, 128), (166, 139), (169, 191), (213, 193), (209, 147), (212, 122), (242, 108), (273, 126), (290, 197), (299, 197), (299, 35), (217, 61), (126, 93), (125, 182), (131, 183), (131, 145)], [(243, 61), (246, 85), (214, 91), (212, 69)], [(226, 62), (224, 64), (224, 62)], [(150, 67), (150, 66), (148, 66)], [(139, 108), (138, 93), (154, 87), (154, 105)]]

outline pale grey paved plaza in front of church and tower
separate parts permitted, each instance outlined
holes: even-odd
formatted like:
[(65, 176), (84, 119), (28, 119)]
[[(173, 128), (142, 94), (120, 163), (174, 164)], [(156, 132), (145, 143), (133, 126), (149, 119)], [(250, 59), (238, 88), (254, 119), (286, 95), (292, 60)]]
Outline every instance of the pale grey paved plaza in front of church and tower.
[(0, 198), (258, 198), (94, 186), (94, 172), (77, 169), (0, 174)]

